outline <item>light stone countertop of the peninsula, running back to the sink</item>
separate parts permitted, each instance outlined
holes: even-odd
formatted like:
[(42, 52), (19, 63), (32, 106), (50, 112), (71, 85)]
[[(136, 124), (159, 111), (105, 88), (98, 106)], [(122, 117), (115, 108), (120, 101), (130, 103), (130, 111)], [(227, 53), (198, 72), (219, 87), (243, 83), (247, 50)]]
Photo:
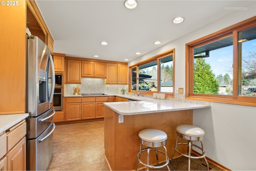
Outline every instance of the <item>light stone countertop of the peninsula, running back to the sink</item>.
[(175, 101), (170, 99), (154, 99), (151, 97), (121, 94), (116, 96), (140, 100), (104, 103), (104, 105), (119, 113), (120, 115), (138, 115), (145, 113), (158, 113), (211, 107), (209, 102), (202, 101)]

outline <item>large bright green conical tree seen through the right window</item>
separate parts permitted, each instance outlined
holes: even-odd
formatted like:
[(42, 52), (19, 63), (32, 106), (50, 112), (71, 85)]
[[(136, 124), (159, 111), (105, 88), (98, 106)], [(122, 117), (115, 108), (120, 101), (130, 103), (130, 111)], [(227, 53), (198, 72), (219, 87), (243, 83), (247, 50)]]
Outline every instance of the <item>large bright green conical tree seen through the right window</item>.
[(219, 83), (203, 58), (196, 58), (194, 64), (194, 93), (218, 94)]

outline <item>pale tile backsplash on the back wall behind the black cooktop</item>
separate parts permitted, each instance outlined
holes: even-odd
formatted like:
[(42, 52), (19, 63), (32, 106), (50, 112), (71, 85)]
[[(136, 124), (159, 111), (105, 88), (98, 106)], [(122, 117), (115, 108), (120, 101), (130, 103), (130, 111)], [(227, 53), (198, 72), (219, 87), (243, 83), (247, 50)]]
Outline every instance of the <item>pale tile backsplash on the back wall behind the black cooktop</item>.
[[(72, 95), (74, 93), (73, 87), (78, 86), (81, 94), (88, 93), (104, 93), (104, 94), (118, 94), (119, 88), (127, 89), (128, 85), (104, 85), (104, 79), (101, 78), (82, 78), (81, 84), (65, 84), (64, 95)], [(127, 92), (126, 92), (127, 93)]]

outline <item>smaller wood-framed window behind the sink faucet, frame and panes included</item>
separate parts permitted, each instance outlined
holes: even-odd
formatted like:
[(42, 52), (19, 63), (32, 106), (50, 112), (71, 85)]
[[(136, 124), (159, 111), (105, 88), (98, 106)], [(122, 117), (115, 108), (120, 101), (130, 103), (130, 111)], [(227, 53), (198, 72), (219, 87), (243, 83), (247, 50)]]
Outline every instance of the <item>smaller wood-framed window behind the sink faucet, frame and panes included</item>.
[(174, 49), (154, 56), (147, 61), (130, 66), (130, 90), (135, 91), (137, 84), (141, 94), (164, 92), (173, 96)]

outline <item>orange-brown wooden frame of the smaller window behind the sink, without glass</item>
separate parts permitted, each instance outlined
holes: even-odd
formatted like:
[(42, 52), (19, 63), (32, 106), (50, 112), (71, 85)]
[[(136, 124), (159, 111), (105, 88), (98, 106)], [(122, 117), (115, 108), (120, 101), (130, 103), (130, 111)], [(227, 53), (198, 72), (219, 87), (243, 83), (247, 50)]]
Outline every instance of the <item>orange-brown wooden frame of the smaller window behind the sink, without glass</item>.
[[(165, 58), (166, 56), (170, 56), (172, 55), (172, 87), (173, 87), (173, 92), (164, 92), (164, 91), (145, 91), (145, 90), (140, 90), (140, 94), (144, 94), (144, 95), (153, 95), (153, 93), (165, 93), (165, 96), (166, 97), (174, 97), (174, 71), (175, 71), (175, 58), (174, 58), (174, 48), (171, 49), (171, 50), (168, 50), (166, 52), (163, 52), (161, 54), (158, 54), (156, 56), (153, 56), (151, 58), (148, 58), (147, 60), (144, 60), (144, 61), (141, 61), (141, 62), (138, 62), (136, 64), (133, 64), (131, 66), (129, 66), (129, 80), (128, 80), (128, 92), (129, 93), (133, 93), (134, 90), (132, 90), (132, 83), (131, 83), (131, 72), (132, 72), (132, 68), (136, 68), (136, 78), (138, 78), (138, 75), (139, 75), (139, 66), (143, 66), (145, 64), (148, 64), (150, 62), (154, 62), (154, 61), (157, 61), (157, 87), (159, 87), (160, 85), (160, 73), (161, 72), (161, 64), (159, 63), (159, 60), (162, 59), (162, 58)], [(136, 84), (138, 84), (138, 79), (136, 79)]]

